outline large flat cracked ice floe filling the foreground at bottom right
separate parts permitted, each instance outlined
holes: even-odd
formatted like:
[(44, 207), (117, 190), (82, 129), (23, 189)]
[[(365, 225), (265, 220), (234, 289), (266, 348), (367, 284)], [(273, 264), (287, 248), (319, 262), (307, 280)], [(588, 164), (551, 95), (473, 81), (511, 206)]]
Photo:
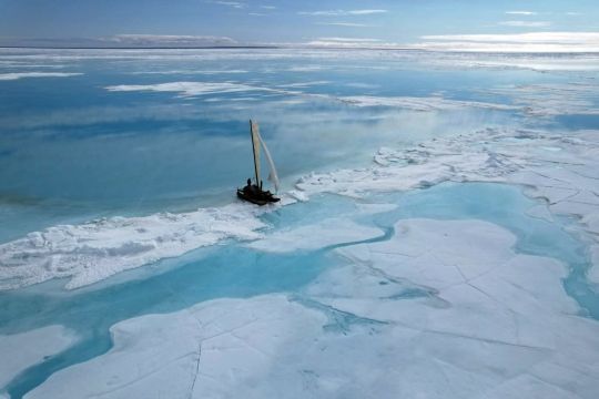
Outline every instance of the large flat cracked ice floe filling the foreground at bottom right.
[(486, 222), (395, 229), (337, 249), (301, 295), (119, 323), (109, 352), (26, 397), (595, 398), (599, 325), (576, 316), (565, 265)]

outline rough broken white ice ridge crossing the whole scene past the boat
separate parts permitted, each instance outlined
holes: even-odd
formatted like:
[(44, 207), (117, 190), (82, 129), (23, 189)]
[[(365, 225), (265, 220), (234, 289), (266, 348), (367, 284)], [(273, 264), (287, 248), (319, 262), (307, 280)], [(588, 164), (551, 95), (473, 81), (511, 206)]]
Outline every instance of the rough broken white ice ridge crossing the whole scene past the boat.
[[(547, 151), (547, 147), (561, 150)], [(359, 197), (373, 192), (428, 187), (446, 181), (514, 183), (526, 187), (527, 195), (546, 200), (551, 213), (579, 218), (577, 232), (587, 237), (595, 253), (599, 246), (597, 160), (599, 134), (596, 131), (550, 135), (532, 130), (486, 129), (399, 150), (385, 147), (369, 167), (306, 175), (282, 203), (307, 201), (316, 193)], [(545, 209), (537, 209), (539, 212), (539, 217), (551, 218)], [(80, 226), (57, 226), (0, 245), (0, 288), (22, 287), (51, 278), (70, 278), (67, 288), (75, 288), (226, 237), (254, 239), (261, 236), (256, 229), (263, 226), (252, 211), (238, 204), (181, 215), (116, 217)], [(297, 248), (314, 248), (314, 243), (302, 244), (293, 234), (286, 232), (278, 238), (270, 237), (267, 239), (273, 242), (268, 246), (297, 244)], [(316, 233), (298, 231), (297, 234), (314, 236)], [(261, 245), (264, 248), (265, 243), (256, 243), (256, 248)], [(335, 243), (324, 245), (331, 244)], [(588, 276), (599, 283), (597, 256), (592, 262), (593, 269)]]

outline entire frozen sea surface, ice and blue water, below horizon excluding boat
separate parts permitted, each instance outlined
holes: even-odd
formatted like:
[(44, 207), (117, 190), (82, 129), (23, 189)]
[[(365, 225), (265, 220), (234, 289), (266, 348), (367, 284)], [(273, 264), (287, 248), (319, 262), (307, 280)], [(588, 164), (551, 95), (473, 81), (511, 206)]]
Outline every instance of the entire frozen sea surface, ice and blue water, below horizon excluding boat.
[(0, 49), (0, 397), (593, 398), (598, 160), (598, 54)]

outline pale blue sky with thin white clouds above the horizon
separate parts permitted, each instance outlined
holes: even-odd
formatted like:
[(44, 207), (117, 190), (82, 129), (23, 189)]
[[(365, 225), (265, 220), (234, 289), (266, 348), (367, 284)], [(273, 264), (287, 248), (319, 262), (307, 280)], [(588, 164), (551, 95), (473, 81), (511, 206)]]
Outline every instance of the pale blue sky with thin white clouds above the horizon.
[[(528, 34), (539, 32), (568, 33), (566, 44), (599, 49), (599, 39), (589, 35), (599, 34), (599, 0), (0, 0), (1, 45), (434, 49), (476, 47), (480, 34), (485, 43), (491, 35), (528, 43)], [(537, 45), (555, 45), (555, 39)]]

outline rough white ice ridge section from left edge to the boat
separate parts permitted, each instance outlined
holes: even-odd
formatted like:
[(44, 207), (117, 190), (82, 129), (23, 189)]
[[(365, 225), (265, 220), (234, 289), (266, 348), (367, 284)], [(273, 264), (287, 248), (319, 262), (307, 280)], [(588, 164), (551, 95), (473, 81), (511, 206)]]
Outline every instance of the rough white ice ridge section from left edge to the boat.
[(264, 223), (260, 211), (230, 204), (196, 212), (145, 217), (111, 217), (62, 225), (0, 245), (0, 289), (52, 278), (69, 278), (67, 288), (89, 285), (119, 272), (225, 238), (255, 239)]

